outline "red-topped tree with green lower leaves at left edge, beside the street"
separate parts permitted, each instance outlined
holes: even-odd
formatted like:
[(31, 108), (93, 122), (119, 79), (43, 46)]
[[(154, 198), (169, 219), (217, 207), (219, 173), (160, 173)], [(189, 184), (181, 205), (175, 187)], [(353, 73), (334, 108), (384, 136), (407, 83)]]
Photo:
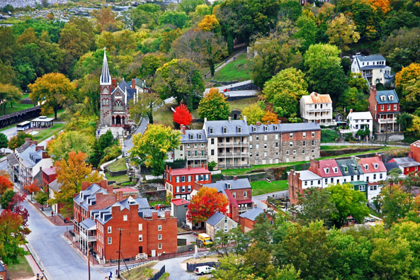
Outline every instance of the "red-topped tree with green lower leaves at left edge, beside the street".
[(25, 236), (30, 233), (23, 226), (23, 218), (18, 213), (4, 210), (0, 214), (0, 258), (6, 264), (18, 263), (18, 257), (28, 254), (23, 249)]

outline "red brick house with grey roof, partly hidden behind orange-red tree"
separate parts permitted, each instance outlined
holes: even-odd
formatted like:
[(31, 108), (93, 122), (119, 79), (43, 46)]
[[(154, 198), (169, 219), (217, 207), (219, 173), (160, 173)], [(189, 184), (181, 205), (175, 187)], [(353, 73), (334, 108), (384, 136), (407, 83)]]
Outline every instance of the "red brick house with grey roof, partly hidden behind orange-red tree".
[[(203, 186), (215, 188), (219, 193), (227, 197), (227, 201), (229, 202), (227, 213), (237, 223), (239, 222), (239, 215), (254, 207), (251, 184), (249, 184), (248, 179), (237, 179), (235, 176), (233, 180), (216, 181), (212, 184), (198, 184), (195, 182), (194, 191), (191, 193), (191, 196), (195, 195)], [(204, 226), (198, 225), (199, 228)]]

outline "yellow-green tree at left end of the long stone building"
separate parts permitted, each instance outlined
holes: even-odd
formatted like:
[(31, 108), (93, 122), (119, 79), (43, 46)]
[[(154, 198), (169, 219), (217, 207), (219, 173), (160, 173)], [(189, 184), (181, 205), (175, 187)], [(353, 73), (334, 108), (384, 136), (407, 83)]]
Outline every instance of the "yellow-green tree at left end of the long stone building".
[(136, 164), (144, 164), (152, 169), (154, 176), (164, 171), (167, 153), (181, 145), (181, 132), (164, 125), (149, 125), (144, 134), (132, 137), (130, 156)]

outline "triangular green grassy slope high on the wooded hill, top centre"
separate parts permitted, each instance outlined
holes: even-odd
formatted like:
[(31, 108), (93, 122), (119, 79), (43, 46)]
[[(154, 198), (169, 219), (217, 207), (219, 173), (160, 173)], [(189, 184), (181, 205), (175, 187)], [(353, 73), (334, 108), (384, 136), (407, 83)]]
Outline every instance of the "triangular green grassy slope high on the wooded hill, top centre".
[[(239, 55), (237, 60), (229, 62), (225, 67), (215, 72), (212, 80), (229, 82), (238, 80), (244, 82), (251, 79), (251, 61), (246, 59), (246, 53)], [(208, 79), (210, 81), (210, 78)]]

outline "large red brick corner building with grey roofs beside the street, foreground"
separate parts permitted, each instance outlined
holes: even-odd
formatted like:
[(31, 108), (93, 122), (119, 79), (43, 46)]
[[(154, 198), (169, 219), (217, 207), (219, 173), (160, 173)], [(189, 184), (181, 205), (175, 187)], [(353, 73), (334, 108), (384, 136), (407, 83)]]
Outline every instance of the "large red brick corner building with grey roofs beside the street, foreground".
[(84, 252), (91, 247), (100, 262), (118, 259), (120, 230), (125, 259), (176, 252), (177, 225), (171, 211), (152, 211), (147, 198), (125, 198), (124, 191), (112, 191), (106, 181), (84, 183), (74, 196), (74, 231)]

